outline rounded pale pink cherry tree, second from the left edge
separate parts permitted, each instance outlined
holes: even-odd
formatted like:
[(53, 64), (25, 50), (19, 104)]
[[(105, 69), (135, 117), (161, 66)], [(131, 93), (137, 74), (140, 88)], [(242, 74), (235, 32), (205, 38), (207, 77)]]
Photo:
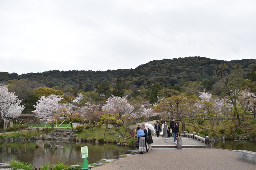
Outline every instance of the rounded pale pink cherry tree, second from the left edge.
[(41, 96), (39, 97), (35, 111), (32, 111), (36, 114), (36, 117), (40, 119), (51, 119), (54, 114), (59, 113), (59, 109), (65, 107), (65, 104), (60, 103), (63, 99), (61, 96), (50, 95), (50, 96)]

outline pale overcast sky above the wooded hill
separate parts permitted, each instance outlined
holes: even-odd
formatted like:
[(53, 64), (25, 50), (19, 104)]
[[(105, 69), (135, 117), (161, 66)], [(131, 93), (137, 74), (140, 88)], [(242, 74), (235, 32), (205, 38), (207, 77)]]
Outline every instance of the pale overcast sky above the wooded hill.
[(0, 0), (0, 71), (256, 59), (255, 0)]

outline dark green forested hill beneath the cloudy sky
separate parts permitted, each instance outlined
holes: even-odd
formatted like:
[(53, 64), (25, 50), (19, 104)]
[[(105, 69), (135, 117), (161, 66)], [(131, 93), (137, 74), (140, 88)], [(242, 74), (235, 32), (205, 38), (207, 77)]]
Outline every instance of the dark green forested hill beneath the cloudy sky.
[[(131, 86), (150, 88), (154, 83), (159, 83), (162, 87), (171, 87), (175, 84), (182, 85), (187, 81), (207, 82), (212, 79), (215, 74), (215, 66), (225, 63), (229, 65), (228, 73), (231, 73), (233, 66), (241, 65), (244, 75), (251, 72), (256, 67), (255, 59), (242, 60), (216, 60), (206, 57), (185, 57), (154, 60), (146, 64), (142, 64), (135, 69), (119, 69), (107, 71), (59, 71), (52, 70), (43, 73), (28, 73), (18, 75), (16, 73), (0, 72), (0, 82), (6, 83), (14, 79), (29, 79), (45, 84), (47, 87), (53, 88), (59, 86), (78, 87), (79, 83), (93, 90), (97, 82), (107, 79), (113, 83), (118, 79), (122, 79), (125, 88), (130, 89)], [(86, 91), (86, 89), (85, 89)]]

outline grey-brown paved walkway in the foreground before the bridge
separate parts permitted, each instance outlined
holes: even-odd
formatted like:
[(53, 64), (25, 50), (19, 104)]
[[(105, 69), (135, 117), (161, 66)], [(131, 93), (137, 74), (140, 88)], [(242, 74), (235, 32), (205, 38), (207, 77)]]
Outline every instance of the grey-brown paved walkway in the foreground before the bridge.
[[(174, 168), (175, 167), (175, 168)], [(237, 152), (221, 149), (152, 149), (92, 170), (255, 170), (256, 164), (237, 158)]]

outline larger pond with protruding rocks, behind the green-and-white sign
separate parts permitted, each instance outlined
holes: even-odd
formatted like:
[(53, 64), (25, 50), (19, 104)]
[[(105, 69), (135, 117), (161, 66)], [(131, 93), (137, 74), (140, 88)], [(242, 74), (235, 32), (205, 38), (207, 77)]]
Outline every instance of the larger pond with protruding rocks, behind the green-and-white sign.
[[(47, 148), (47, 143), (52, 145)], [(54, 149), (55, 145), (62, 145), (64, 149)], [(63, 162), (64, 164), (82, 164), (81, 147), (88, 146), (89, 163), (94, 163), (100, 159), (115, 159), (118, 155), (126, 154), (127, 150), (134, 147), (116, 146), (116, 144), (107, 143), (85, 143), (73, 141), (44, 141), (44, 147), (35, 148), (35, 141), (14, 141), (0, 142), (0, 163), (9, 162), (14, 158), (21, 162), (30, 162), (35, 167), (45, 165), (50, 162), (51, 165)]]

